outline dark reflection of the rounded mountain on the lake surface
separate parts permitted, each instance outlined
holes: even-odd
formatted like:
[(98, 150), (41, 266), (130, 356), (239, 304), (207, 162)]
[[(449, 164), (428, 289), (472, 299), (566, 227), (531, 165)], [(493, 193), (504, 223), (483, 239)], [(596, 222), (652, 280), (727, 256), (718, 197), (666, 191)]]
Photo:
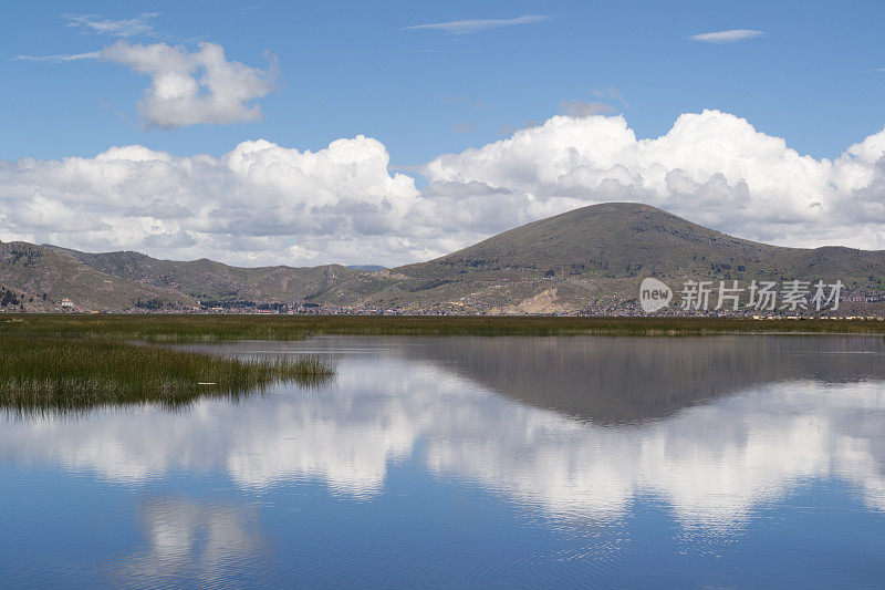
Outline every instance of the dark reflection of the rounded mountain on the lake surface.
[(885, 379), (879, 338), (428, 339), (406, 350), (509, 397), (601, 424), (665, 417), (782, 381)]

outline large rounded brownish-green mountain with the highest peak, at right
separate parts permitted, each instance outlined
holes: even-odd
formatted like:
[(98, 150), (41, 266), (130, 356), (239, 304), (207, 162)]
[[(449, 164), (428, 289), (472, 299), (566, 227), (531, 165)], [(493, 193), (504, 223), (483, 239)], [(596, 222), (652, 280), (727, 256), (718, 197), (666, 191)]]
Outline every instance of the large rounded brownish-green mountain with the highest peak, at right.
[[(735, 238), (634, 203), (582, 207), (491, 237), (429, 262), (393, 269), (403, 278), (382, 304), (418, 302), (466, 311), (615, 312), (639, 281), (842, 280), (882, 297), (885, 252), (783, 248)], [(868, 296), (868, 297), (867, 297)]]

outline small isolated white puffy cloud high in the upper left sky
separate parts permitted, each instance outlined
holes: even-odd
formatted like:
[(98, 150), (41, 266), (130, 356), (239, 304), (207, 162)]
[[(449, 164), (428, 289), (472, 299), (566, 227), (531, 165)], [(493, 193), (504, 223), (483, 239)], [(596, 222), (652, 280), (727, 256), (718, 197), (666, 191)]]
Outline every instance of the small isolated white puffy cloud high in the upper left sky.
[(260, 70), (228, 61), (216, 43), (188, 52), (180, 45), (117, 41), (101, 51), (101, 59), (150, 76), (138, 111), (148, 125), (167, 128), (260, 120), (253, 101), (273, 90), (278, 75), (275, 56), (264, 56), (270, 63)]

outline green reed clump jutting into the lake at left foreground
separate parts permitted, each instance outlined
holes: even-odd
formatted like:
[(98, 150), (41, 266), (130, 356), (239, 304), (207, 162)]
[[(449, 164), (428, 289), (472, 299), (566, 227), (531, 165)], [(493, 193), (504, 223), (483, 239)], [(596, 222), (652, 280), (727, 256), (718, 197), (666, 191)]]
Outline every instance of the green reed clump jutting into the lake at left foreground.
[(333, 374), (315, 358), (240, 360), (97, 339), (0, 334), (0, 406), (82, 410), (201, 395), (239, 396), (275, 381), (315, 385)]

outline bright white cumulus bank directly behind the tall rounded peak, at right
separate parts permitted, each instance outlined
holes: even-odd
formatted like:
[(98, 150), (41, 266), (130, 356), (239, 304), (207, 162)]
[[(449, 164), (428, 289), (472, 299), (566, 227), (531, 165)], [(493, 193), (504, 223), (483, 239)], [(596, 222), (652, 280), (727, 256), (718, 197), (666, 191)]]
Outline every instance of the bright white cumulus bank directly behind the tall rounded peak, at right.
[[(497, 231), (583, 205), (633, 200), (751, 239), (883, 248), (883, 156), (885, 130), (835, 159), (816, 159), (719, 111), (684, 114), (649, 139), (637, 139), (622, 116), (555, 116), (427, 164), (436, 200), (426, 220), (457, 208)], [(492, 189), (508, 192), (494, 196), (508, 215), (483, 220)]]

